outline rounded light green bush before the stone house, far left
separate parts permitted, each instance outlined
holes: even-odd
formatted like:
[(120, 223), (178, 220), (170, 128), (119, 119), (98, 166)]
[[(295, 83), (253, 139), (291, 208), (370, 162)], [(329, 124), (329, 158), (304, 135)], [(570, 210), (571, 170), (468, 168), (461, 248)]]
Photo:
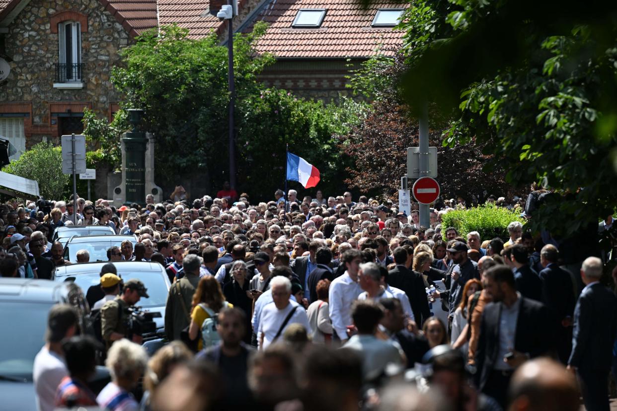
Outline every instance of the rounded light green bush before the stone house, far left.
[(36, 144), (2, 171), (37, 181), (39, 193), (49, 200), (60, 200), (68, 184), (68, 174), (62, 174), (62, 149), (51, 143)]

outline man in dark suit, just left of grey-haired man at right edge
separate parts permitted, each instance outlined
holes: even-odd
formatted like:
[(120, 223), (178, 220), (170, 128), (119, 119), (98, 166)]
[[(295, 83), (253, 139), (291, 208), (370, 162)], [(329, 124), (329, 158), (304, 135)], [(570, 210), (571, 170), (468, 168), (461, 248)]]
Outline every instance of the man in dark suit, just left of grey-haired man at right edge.
[(554, 245), (545, 245), (540, 251), (542, 303), (549, 309), (557, 327), (557, 354), (563, 364), (568, 364), (572, 349), (572, 315), (576, 297), (569, 272), (557, 265), (559, 251)]

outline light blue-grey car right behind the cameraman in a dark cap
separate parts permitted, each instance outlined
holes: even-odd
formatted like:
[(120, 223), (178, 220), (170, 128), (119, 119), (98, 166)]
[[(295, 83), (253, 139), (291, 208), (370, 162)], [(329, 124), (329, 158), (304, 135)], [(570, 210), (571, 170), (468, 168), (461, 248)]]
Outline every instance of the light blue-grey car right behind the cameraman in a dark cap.
[[(99, 287), (101, 268), (104, 264), (106, 262), (88, 262), (57, 267), (56, 281), (73, 282), (83, 290), (83, 293), (87, 293), (88, 288)], [(143, 346), (148, 354), (152, 355), (164, 344), (165, 338), (165, 304), (171, 287), (165, 268), (158, 262), (145, 261), (120, 261), (114, 262), (114, 266), (122, 280), (138, 279), (148, 290), (149, 297), (142, 297), (138, 307), (155, 315), (153, 320), (156, 332), (142, 335)]]

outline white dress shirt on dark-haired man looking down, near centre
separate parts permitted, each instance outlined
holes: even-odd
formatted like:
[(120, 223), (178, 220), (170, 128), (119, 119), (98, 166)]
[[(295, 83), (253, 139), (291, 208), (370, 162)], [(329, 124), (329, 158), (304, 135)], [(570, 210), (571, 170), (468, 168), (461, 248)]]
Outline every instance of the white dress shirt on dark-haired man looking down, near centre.
[(347, 340), (347, 325), (352, 325), (351, 306), (362, 293), (360, 285), (349, 277), (347, 271), (330, 284), (328, 303), (334, 331), (341, 340)]

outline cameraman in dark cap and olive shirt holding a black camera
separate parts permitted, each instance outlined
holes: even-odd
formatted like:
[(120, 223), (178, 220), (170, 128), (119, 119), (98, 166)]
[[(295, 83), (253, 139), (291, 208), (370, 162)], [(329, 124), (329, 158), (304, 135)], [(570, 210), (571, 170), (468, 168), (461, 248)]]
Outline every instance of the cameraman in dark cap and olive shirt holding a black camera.
[(125, 283), (122, 294), (107, 301), (101, 308), (101, 335), (107, 349), (114, 341), (122, 338), (130, 337), (134, 343), (142, 343), (141, 334), (133, 333), (128, 326), (130, 309), (141, 297), (148, 298), (144, 283), (138, 279), (130, 279)]

